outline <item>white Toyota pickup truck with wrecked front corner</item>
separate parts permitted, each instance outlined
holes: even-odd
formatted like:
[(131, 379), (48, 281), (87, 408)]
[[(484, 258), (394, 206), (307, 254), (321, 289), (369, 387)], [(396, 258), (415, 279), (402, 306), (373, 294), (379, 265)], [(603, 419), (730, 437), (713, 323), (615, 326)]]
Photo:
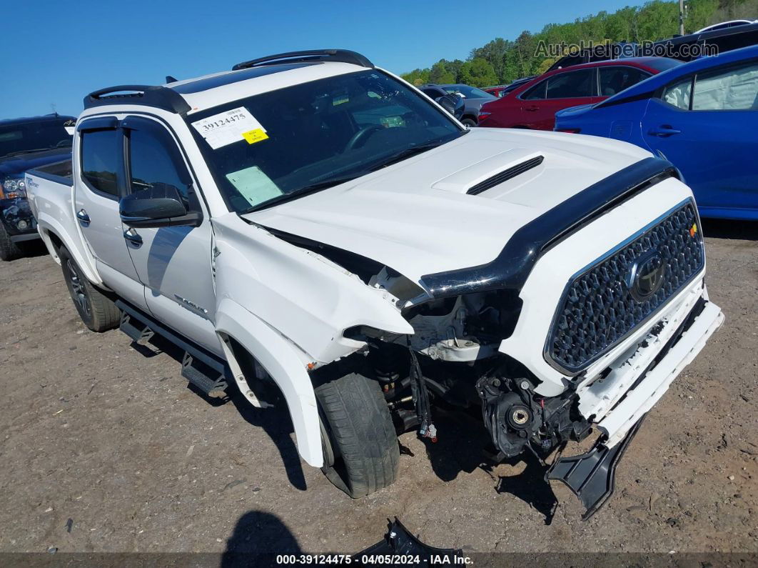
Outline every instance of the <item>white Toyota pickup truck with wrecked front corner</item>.
[[(92, 93), (73, 163), (27, 174), (93, 331), (161, 334), (214, 395), (286, 403), (302, 458), (359, 497), (396, 431), (483, 418), (587, 507), (719, 327), (691, 190), (630, 144), (467, 130), (355, 52), (293, 52)], [(68, 166), (68, 167), (67, 167)]]

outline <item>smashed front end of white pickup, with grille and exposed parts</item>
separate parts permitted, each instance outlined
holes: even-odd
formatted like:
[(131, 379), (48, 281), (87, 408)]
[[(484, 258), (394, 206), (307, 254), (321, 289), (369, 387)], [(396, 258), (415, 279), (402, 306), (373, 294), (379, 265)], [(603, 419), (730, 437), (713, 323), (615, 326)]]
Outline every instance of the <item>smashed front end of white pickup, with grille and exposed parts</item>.
[[(676, 177), (647, 158), (525, 224), (492, 262), (418, 281), (269, 231), (385, 295), (412, 328), (346, 327), (355, 356), (326, 367), (374, 378), (396, 424), (431, 441), (445, 435), (432, 416), (444, 404), (481, 416), (496, 462), (532, 453), (545, 463), (557, 450), (546, 479), (568, 485), (587, 519), (612, 494), (645, 414), (723, 320), (703, 284), (697, 209)], [(664, 199), (670, 209), (651, 221)], [(560, 456), (594, 430), (592, 450)]]

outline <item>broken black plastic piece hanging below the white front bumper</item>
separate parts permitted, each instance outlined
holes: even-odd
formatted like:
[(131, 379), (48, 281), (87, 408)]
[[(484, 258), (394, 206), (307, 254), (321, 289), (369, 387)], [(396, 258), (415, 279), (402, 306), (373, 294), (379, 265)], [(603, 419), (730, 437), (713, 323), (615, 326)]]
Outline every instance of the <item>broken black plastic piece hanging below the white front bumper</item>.
[(547, 470), (546, 482), (555, 480), (565, 483), (586, 507), (587, 510), (581, 516), (583, 521), (597, 513), (613, 494), (615, 468), (644, 418), (642, 416), (625, 438), (613, 447), (607, 447), (605, 438), (600, 438), (587, 453), (561, 457)]

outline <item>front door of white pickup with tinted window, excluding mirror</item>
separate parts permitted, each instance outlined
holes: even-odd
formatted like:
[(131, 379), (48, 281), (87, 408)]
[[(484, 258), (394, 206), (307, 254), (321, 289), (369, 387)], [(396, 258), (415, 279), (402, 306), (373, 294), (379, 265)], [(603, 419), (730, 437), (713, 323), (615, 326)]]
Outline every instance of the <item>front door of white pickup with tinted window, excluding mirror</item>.
[(131, 259), (145, 285), (155, 318), (221, 355), (215, 334), (215, 290), (211, 271), (212, 229), (174, 137), (149, 118), (128, 117), (127, 180), (130, 191), (154, 184), (177, 187), (188, 210), (203, 212), (199, 227), (133, 228)]

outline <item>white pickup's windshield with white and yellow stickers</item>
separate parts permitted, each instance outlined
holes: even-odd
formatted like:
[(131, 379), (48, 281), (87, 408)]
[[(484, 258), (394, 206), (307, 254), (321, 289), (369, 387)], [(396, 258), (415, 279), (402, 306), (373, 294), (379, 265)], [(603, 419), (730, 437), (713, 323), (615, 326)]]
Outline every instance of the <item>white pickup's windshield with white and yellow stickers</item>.
[(325, 189), (467, 132), (374, 70), (236, 100), (187, 121), (236, 212)]

